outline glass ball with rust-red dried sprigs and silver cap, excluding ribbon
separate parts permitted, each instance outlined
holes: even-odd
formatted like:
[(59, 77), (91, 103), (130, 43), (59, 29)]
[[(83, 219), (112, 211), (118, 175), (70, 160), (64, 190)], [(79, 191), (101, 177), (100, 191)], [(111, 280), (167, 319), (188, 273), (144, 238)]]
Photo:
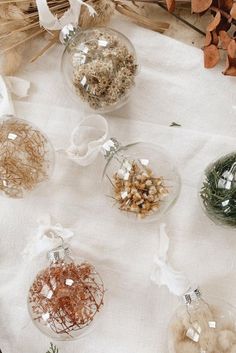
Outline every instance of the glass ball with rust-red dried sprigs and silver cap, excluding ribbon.
[(28, 308), (37, 328), (55, 340), (87, 334), (103, 306), (104, 285), (94, 266), (71, 258), (62, 245), (48, 252), (50, 265), (30, 287)]

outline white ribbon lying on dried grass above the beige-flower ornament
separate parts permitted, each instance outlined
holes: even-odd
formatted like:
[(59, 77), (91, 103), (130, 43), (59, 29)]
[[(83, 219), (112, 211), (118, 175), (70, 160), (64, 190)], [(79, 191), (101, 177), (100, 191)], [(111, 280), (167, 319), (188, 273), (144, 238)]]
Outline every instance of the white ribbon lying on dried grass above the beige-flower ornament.
[(96, 14), (96, 11), (89, 4), (84, 3), (83, 0), (69, 0), (70, 8), (60, 17), (53, 15), (47, 0), (36, 0), (36, 5), (39, 13), (39, 23), (41, 27), (48, 30), (61, 30), (69, 23), (78, 24), (81, 6), (85, 5), (91, 16)]

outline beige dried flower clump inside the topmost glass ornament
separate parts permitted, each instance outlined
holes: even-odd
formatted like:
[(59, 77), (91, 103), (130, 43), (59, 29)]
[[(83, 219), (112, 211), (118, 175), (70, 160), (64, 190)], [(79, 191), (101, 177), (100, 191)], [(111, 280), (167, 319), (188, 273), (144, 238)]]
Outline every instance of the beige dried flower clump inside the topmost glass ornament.
[(125, 99), (134, 86), (137, 64), (134, 52), (111, 31), (90, 30), (72, 40), (75, 92), (92, 109), (103, 110)]

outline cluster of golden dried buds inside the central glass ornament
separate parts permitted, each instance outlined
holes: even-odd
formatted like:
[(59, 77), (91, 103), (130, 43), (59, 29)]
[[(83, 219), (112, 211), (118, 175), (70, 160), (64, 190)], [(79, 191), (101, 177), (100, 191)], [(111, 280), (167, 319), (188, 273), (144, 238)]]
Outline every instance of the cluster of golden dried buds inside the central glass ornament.
[(156, 177), (153, 171), (133, 161), (128, 174), (114, 174), (111, 180), (114, 198), (122, 211), (132, 212), (144, 218), (160, 207), (168, 189), (163, 177)]

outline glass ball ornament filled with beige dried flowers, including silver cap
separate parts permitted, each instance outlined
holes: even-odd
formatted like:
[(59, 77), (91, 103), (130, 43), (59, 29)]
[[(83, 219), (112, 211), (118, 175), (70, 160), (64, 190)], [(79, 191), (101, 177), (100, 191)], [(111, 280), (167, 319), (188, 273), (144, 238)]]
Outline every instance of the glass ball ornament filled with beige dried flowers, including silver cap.
[(89, 110), (108, 112), (124, 105), (138, 71), (132, 43), (110, 28), (63, 28), (61, 68), (73, 96)]

